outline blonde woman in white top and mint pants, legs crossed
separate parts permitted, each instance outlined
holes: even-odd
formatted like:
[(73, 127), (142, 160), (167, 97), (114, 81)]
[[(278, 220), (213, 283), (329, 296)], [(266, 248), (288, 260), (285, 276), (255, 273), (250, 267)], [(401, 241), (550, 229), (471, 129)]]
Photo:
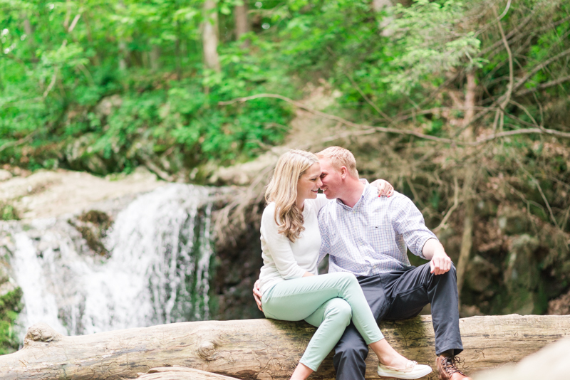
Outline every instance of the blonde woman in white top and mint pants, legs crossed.
[(304, 380), (316, 371), (351, 321), (378, 356), (380, 376), (419, 379), (429, 374), (430, 366), (405, 359), (386, 342), (352, 273), (317, 276), (317, 215), (328, 202), (317, 196), (321, 186), (321, 166), (314, 154), (286, 152), (267, 186), (268, 205), (261, 217), (264, 265), (259, 282), (265, 316), (306, 320), (318, 327), (291, 379)]

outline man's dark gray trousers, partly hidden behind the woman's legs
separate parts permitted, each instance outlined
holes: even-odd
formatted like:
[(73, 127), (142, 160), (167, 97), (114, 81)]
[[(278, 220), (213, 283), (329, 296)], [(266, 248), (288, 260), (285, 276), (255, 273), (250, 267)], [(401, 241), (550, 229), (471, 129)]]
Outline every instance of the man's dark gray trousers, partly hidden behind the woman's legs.
[[(451, 349), (454, 354), (462, 352), (455, 266), (443, 275), (432, 275), (430, 263), (426, 263), (418, 268), (371, 277), (357, 276), (357, 279), (378, 322), (415, 317), (430, 303), (435, 353), (439, 355)], [(400, 354), (405, 356), (404, 352)], [(336, 379), (364, 380), (367, 356), (366, 343), (354, 325), (349, 324), (335, 347)]]

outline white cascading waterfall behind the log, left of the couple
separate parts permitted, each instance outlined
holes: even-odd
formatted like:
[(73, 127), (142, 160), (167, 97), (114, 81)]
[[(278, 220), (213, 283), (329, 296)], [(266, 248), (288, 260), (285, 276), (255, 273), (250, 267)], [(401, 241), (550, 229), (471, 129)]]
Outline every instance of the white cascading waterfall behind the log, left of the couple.
[(207, 320), (211, 213), (211, 189), (155, 189), (118, 213), (103, 241), (108, 258), (88, 254), (66, 218), (4, 226), (23, 331), (40, 321), (75, 335)]

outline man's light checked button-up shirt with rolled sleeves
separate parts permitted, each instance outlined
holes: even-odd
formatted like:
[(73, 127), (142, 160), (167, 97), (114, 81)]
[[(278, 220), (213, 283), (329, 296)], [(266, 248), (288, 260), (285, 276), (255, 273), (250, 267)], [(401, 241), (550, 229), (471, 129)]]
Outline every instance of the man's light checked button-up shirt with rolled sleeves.
[(372, 276), (403, 269), (410, 265), (406, 247), (425, 258), (425, 242), (437, 240), (407, 196), (394, 191), (390, 198), (379, 198), (369, 184), (352, 208), (339, 199), (324, 206), (318, 227), (322, 238), (318, 262), (328, 254), (329, 273)]

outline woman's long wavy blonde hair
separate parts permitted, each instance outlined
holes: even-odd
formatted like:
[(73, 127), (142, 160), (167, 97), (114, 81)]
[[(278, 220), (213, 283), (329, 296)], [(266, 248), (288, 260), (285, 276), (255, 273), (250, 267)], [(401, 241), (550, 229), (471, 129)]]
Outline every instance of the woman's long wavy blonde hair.
[(279, 233), (291, 242), (305, 231), (303, 213), (296, 205), (297, 181), (317, 162), (314, 154), (304, 150), (294, 149), (282, 154), (265, 191), (266, 202), (275, 202), (275, 223)]

